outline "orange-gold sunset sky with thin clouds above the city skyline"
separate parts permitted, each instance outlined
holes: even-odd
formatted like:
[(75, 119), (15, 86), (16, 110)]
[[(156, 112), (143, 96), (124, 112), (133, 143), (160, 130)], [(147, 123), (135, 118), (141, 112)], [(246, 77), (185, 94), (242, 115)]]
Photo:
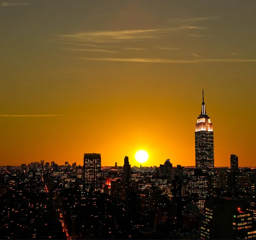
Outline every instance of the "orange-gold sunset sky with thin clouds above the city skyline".
[(0, 2), (0, 165), (195, 166), (202, 88), (215, 166), (256, 166), (255, 0)]

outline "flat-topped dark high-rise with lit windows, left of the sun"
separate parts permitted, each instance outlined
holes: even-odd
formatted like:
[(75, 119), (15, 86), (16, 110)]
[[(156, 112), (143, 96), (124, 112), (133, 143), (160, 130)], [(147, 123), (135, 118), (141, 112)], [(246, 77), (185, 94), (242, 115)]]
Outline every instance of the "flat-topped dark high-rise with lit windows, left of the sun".
[(101, 155), (98, 153), (84, 154), (84, 191), (101, 189)]

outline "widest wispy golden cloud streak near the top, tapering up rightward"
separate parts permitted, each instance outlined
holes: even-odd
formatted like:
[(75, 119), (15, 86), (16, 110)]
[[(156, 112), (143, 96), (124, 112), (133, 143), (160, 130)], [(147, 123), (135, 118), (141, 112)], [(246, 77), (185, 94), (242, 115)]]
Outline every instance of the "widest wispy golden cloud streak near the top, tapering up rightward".
[(179, 26), (167, 29), (144, 29), (144, 30), (123, 30), (123, 31), (89, 31), (76, 34), (60, 35), (64, 39), (76, 42), (90, 43), (115, 43), (128, 40), (145, 40), (159, 38), (159, 33), (168, 33), (171, 31), (182, 31), (189, 29), (206, 29), (200, 26)]

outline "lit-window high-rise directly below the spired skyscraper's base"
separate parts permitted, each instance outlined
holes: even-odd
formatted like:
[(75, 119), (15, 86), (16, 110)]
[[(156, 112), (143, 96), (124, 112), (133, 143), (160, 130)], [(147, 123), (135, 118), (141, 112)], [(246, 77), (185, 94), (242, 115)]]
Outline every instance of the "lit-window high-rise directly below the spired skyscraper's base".
[(202, 211), (208, 196), (208, 180), (201, 169), (195, 169), (195, 173), (188, 183), (188, 190), (192, 204), (197, 205), (198, 209)]

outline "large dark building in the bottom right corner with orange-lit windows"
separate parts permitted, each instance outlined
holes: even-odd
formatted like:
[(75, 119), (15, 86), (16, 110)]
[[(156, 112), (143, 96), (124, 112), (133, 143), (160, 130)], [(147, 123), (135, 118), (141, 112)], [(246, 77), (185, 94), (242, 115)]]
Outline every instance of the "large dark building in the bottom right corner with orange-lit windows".
[(210, 197), (201, 221), (201, 239), (255, 239), (253, 217), (246, 201), (231, 197)]

